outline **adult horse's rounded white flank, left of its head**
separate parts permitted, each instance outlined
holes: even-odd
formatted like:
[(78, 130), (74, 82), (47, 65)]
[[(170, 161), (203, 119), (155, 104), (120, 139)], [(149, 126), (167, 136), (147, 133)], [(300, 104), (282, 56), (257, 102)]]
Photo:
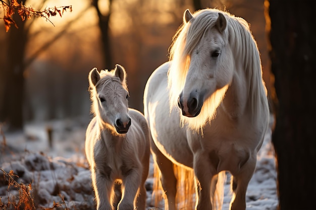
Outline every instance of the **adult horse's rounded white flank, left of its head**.
[[(168, 69), (171, 62), (157, 67), (144, 91), (144, 115), (157, 148), (174, 163), (192, 167), (193, 154), (188, 145), (186, 125), (180, 124), (180, 109), (170, 111)], [(172, 139), (172, 141), (171, 141)], [(181, 147), (181, 150), (179, 148)]]

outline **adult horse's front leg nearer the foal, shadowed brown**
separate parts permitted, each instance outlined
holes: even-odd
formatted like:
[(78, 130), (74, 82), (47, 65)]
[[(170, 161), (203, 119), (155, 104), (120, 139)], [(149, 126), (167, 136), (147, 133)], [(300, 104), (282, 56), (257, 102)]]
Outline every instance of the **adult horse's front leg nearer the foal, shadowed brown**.
[[(212, 210), (210, 201), (210, 185), (213, 176), (216, 174), (209, 161), (209, 157), (202, 153), (194, 154), (193, 168), (197, 181), (199, 182), (199, 193), (197, 198), (197, 210)], [(198, 187), (198, 186), (197, 186)]]

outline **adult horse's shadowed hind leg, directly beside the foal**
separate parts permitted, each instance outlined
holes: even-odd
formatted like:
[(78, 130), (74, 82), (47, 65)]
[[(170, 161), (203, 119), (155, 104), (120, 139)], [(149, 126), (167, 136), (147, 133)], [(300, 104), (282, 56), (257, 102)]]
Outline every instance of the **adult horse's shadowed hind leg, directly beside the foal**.
[(167, 198), (165, 198), (165, 210), (176, 210), (177, 179), (174, 173), (173, 163), (160, 152), (152, 139), (150, 147), (153, 152), (153, 159), (162, 175), (161, 183), (167, 196)]

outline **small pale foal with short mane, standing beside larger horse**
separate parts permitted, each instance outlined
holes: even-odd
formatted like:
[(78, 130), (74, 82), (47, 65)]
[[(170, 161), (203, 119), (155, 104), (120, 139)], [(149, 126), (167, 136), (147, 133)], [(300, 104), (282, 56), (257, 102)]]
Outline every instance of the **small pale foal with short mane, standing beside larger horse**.
[(94, 118), (85, 142), (91, 168), (97, 209), (112, 210), (120, 198), (114, 184), (122, 182), (119, 210), (144, 210), (144, 186), (149, 168), (149, 128), (139, 111), (128, 108), (125, 69), (116, 65), (114, 71), (93, 68), (89, 84)]

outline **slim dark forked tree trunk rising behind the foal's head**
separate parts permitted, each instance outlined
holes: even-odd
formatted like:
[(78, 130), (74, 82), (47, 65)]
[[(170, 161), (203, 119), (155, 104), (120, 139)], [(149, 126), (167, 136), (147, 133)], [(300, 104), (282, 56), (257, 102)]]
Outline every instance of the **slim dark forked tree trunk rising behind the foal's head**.
[(112, 63), (112, 51), (111, 51), (111, 41), (110, 41), (110, 30), (109, 30), (109, 22), (112, 13), (111, 5), (113, 0), (109, 0), (109, 12), (106, 15), (103, 15), (98, 6), (98, 0), (92, 0), (92, 5), (96, 9), (98, 20), (99, 20), (99, 28), (101, 31), (101, 44), (103, 49), (103, 63), (104, 68), (114, 68), (114, 64)]

